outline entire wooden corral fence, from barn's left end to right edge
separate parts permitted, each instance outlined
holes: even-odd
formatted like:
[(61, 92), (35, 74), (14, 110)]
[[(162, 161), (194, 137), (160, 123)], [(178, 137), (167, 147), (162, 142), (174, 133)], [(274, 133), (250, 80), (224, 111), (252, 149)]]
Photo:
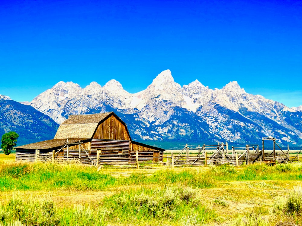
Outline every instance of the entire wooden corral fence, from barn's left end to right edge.
[[(264, 150), (264, 143), (267, 140), (273, 141), (273, 150)], [(277, 147), (277, 149), (276, 149)], [(194, 167), (207, 165), (249, 165), (255, 162), (265, 162), (270, 165), (275, 163), (299, 162), (299, 154), (290, 154), (289, 147), (286, 151), (276, 143), (275, 138), (262, 138), (262, 150), (259, 145), (248, 144), (243, 147), (232, 146), (228, 143), (217, 145), (203, 145), (189, 148), (188, 144), (179, 153), (171, 152), (171, 155), (163, 156), (162, 153), (150, 155), (147, 151), (127, 151), (117, 153), (111, 151), (85, 150), (79, 142), (79, 150), (69, 150), (64, 147), (55, 151), (28, 150), (16, 152), (16, 160), (29, 162), (58, 162), (61, 164), (79, 163), (91, 166), (103, 167), (128, 167), (128, 168), (154, 168), (154, 167)]]

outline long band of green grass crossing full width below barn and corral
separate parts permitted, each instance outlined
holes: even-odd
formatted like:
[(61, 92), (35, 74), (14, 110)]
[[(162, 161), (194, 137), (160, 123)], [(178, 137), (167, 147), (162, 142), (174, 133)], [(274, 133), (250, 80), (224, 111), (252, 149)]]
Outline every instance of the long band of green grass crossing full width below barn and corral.
[[(112, 170), (112, 169), (111, 169)], [(182, 171), (162, 169), (151, 175), (131, 173), (115, 178), (95, 167), (57, 165), (52, 163), (0, 162), (0, 190), (107, 190), (122, 185), (182, 184), (185, 187), (213, 188), (222, 181), (301, 180), (301, 164), (267, 166), (253, 164), (236, 168), (230, 165), (210, 166), (209, 169), (184, 168)]]

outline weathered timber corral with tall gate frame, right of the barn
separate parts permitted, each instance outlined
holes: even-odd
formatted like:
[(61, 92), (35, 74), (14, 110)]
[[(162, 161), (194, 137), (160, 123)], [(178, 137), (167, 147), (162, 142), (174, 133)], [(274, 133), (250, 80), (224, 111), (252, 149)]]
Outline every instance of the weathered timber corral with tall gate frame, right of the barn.
[[(264, 142), (270, 140), (273, 141), (273, 150), (264, 149)], [(279, 150), (276, 150), (275, 147)], [(190, 150), (195, 154), (190, 153)], [(297, 155), (290, 156), (289, 146), (287, 151), (283, 151), (276, 142), (274, 137), (262, 138), (262, 149), (259, 150), (257, 144), (247, 144), (245, 147), (234, 147), (229, 149), (228, 143), (218, 143), (217, 145), (198, 145), (197, 148), (189, 149), (188, 144), (181, 150), (178, 155), (171, 157), (171, 162), (174, 166), (207, 166), (211, 165), (249, 165), (255, 162), (265, 162), (270, 165), (278, 163), (293, 163), (299, 162), (299, 154), (302, 152), (302, 148)], [(196, 154), (197, 153), (197, 154)], [(211, 153), (211, 155), (209, 154)], [(169, 159), (167, 157), (167, 163)]]

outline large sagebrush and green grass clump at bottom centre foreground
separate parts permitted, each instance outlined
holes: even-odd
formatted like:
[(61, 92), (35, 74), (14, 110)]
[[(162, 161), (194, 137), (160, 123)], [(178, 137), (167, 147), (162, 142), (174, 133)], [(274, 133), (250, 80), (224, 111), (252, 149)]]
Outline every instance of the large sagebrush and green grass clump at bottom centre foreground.
[[(131, 224), (205, 224), (217, 218), (215, 211), (194, 197), (190, 188), (167, 186), (158, 189), (121, 191), (103, 200), (108, 221)], [(131, 216), (129, 218), (129, 216)]]

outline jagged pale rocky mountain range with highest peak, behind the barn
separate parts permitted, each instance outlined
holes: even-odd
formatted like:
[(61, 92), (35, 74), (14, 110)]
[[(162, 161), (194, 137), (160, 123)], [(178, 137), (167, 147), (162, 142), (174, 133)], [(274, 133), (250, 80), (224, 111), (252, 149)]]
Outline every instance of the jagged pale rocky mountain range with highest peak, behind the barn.
[(282, 146), (302, 145), (302, 106), (288, 108), (246, 93), (236, 81), (214, 90), (198, 80), (180, 86), (170, 70), (134, 94), (116, 80), (103, 87), (92, 82), (85, 88), (61, 81), (30, 105), (57, 123), (70, 114), (114, 111), (127, 123), (133, 140), (159, 146), (225, 141), (260, 144), (262, 137), (270, 136)]

